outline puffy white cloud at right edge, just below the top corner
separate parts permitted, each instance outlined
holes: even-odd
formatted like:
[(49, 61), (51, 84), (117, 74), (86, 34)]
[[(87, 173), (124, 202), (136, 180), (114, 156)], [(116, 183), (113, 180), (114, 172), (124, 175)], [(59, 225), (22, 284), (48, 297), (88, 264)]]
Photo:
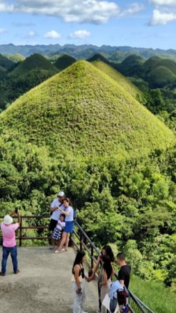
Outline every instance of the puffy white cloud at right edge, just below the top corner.
[(168, 22), (176, 20), (176, 13), (161, 13), (159, 10), (154, 10), (150, 19), (150, 26), (166, 25)]

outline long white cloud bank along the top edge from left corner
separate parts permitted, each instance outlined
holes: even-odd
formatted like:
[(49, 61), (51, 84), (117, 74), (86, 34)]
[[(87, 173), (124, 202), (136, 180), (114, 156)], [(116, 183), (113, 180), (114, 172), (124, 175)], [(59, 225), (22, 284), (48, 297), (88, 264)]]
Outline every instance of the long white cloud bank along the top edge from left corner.
[[(115, 0), (0, 0), (0, 12), (49, 15), (64, 22), (103, 24), (111, 17), (138, 13), (143, 6), (134, 2), (121, 10)], [(123, 13), (124, 12), (124, 13)]]

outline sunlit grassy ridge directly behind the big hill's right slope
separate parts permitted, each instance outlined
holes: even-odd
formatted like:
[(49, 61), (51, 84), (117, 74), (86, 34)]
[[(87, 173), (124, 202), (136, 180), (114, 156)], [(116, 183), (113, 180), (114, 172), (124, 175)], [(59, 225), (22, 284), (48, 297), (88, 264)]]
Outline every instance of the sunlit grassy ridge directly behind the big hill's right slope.
[(108, 74), (109, 77), (116, 81), (122, 88), (125, 89), (125, 91), (127, 91), (127, 93), (130, 93), (130, 95), (132, 95), (133, 97), (136, 98), (138, 94), (141, 94), (141, 91), (138, 90), (138, 88), (134, 86), (134, 84), (131, 83), (129, 79), (124, 77), (117, 70), (113, 69), (113, 67), (111, 67), (110, 65), (102, 61), (93, 61), (92, 64), (95, 65), (95, 67), (97, 67), (102, 72)]

